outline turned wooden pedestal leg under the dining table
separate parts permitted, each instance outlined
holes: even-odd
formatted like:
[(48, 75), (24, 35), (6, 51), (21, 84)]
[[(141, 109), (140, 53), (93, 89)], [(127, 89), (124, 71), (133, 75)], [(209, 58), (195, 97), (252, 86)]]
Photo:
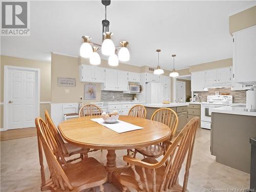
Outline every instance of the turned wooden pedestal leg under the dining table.
[(115, 150), (108, 150), (106, 155), (106, 172), (108, 172), (108, 182), (112, 182), (112, 173), (117, 171)]

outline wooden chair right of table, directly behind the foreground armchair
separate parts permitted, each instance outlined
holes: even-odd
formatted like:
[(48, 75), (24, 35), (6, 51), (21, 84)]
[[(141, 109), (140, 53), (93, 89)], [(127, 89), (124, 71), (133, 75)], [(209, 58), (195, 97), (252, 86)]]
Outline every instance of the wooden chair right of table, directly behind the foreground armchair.
[[(178, 115), (176, 114), (175, 111), (169, 108), (158, 109), (153, 113), (151, 120), (161, 122), (167, 125), (168, 127), (170, 127), (171, 134), (168, 140), (170, 141), (173, 139), (173, 136), (177, 130), (177, 126), (179, 123)], [(136, 157), (137, 153), (140, 153), (144, 157), (158, 158), (161, 155), (164, 155), (165, 151), (166, 151), (166, 142), (162, 142), (162, 143), (150, 145), (147, 147), (136, 148), (134, 152), (134, 157)]]

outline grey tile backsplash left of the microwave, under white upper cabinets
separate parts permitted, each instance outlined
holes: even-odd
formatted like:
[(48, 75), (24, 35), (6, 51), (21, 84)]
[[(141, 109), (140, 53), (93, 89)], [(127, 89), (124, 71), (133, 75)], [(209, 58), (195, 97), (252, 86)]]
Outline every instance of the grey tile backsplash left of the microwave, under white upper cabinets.
[(101, 101), (131, 101), (132, 99), (133, 94), (127, 94), (121, 91), (101, 91)]

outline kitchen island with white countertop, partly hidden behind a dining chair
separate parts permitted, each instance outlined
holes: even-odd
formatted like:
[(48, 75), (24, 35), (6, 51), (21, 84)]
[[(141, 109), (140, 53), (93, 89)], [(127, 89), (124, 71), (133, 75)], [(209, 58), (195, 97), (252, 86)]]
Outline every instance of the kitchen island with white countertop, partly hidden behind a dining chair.
[(179, 117), (179, 124), (177, 127), (176, 135), (182, 130), (182, 128), (187, 123), (187, 103), (169, 103), (169, 104), (162, 104), (162, 103), (153, 103), (153, 104), (144, 104), (146, 108), (146, 119), (151, 119), (151, 116), (155, 111), (160, 108), (170, 108), (174, 110), (178, 117)]

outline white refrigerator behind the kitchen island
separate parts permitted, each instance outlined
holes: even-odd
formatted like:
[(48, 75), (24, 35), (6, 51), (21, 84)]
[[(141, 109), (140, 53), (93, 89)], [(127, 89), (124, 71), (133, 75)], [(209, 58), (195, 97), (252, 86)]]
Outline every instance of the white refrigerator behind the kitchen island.
[(146, 103), (162, 103), (163, 84), (157, 82), (146, 83)]

